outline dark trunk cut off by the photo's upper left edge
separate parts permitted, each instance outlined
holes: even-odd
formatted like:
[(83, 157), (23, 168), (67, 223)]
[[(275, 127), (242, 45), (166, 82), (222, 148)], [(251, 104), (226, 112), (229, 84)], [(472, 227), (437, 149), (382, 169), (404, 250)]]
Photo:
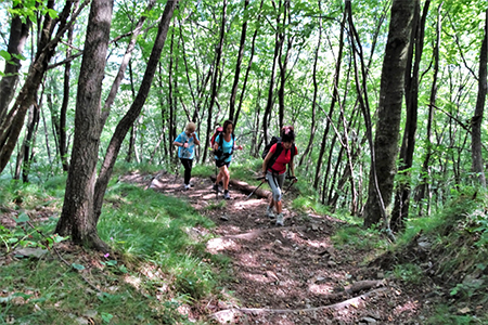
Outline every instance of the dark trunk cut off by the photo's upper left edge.
[[(17, 4), (14, 9), (20, 8), (22, 4)], [(30, 20), (26, 20), (25, 23), (18, 15), (12, 17), (10, 25), (10, 38), (7, 47), (7, 52), (11, 55), (11, 60), (5, 63), (3, 69), (3, 77), (0, 80), (0, 125), (7, 115), (9, 104), (15, 93), (15, 88), (18, 82), (18, 72), (21, 70), (22, 62), (18, 55), (24, 52), (25, 43), (29, 36)]]

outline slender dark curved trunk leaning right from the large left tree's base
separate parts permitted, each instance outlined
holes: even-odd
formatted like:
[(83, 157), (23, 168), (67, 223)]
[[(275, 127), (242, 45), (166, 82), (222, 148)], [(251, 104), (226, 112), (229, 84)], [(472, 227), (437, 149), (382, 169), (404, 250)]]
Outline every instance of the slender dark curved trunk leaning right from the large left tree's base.
[(147, 67), (142, 78), (141, 87), (139, 88), (138, 95), (130, 106), (127, 114), (121, 118), (115, 128), (114, 134), (111, 139), (111, 143), (106, 150), (105, 158), (102, 162), (100, 169), (100, 176), (97, 180), (94, 188), (94, 222), (97, 223), (100, 214), (102, 213), (103, 196), (105, 195), (106, 186), (112, 176), (115, 161), (117, 160), (118, 152), (120, 151), (121, 143), (127, 135), (130, 127), (133, 125), (134, 120), (141, 114), (142, 107), (144, 106), (145, 100), (147, 99), (149, 92), (151, 90), (151, 84), (156, 74), (157, 63), (160, 60), (160, 53), (166, 41), (166, 36), (169, 29), (169, 23), (171, 22), (172, 13), (178, 4), (178, 0), (168, 1), (163, 12), (163, 16), (159, 22), (157, 29), (156, 40), (154, 41), (154, 47), (151, 52), (150, 60), (147, 62)]

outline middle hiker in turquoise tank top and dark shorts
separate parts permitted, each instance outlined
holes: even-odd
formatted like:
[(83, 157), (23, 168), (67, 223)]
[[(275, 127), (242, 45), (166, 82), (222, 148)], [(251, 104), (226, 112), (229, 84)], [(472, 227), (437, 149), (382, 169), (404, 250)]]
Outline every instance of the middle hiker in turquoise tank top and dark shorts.
[(231, 120), (226, 120), (223, 122), (222, 132), (217, 135), (214, 144), (215, 152), (215, 165), (219, 169), (217, 180), (214, 184), (214, 191), (219, 192), (219, 183), (222, 181), (223, 184), (223, 198), (230, 199), (229, 195), (229, 165), (232, 160), (232, 153), (235, 148), (242, 151), (242, 145), (235, 146), (235, 139), (233, 134), (234, 123)]

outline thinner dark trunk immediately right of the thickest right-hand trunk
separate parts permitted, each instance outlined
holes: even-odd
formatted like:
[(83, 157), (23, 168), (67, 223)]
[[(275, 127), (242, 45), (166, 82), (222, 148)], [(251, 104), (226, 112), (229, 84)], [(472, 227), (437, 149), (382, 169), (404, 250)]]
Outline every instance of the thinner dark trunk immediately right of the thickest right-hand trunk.
[(420, 2), (415, 1), (413, 32), (411, 36), (409, 55), (406, 68), (406, 107), (407, 119), (403, 130), (403, 140), (400, 148), (399, 171), (406, 176), (406, 181), (398, 184), (395, 194), (395, 206), (391, 211), (391, 230), (399, 231), (404, 227), (404, 219), (410, 208), (410, 168), (413, 166), (413, 152), (415, 148), (415, 133), (419, 110), (419, 70), (424, 50), (425, 21), (431, 1), (424, 4), (420, 15)]

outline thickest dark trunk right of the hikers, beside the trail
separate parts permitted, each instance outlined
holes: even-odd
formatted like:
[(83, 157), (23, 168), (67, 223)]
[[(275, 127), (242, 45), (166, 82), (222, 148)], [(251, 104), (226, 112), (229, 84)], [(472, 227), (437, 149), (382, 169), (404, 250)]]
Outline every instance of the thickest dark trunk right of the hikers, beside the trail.
[[(407, 50), (412, 32), (414, 2), (394, 0), (383, 61), (376, 134), (372, 147), (364, 225), (376, 224), (391, 202), (404, 91)], [(382, 204), (383, 203), (383, 204)], [(386, 222), (386, 220), (385, 220)], [(385, 226), (388, 226), (386, 224)]]

